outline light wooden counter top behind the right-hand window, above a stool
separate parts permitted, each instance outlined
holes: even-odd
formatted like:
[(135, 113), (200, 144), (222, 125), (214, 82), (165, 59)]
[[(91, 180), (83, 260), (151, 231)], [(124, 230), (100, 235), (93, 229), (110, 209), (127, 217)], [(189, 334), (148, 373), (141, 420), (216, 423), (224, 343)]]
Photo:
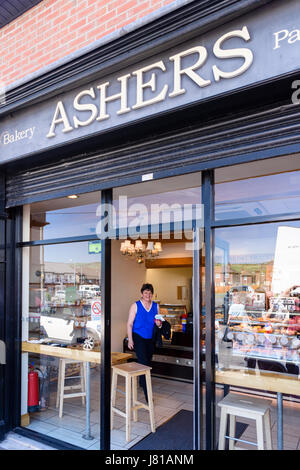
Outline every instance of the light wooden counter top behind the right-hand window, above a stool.
[(296, 375), (253, 370), (216, 370), (215, 381), (219, 384), (300, 395), (300, 380)]

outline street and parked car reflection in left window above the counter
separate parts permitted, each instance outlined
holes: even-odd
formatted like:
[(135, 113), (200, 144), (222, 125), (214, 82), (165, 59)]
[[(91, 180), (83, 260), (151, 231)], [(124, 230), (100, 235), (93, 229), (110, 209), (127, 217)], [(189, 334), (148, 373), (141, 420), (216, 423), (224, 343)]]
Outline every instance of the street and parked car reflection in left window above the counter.
[[(38, 339), (71, 344), (87, 337), (92, 320), (91, 302), (96, 299), (101, 302), (99, 258), (99, 254), (89, 252), (88, 242), (30, 249), (29, 312), (39, 320), (36, 322), (39, 331), (35, 328)], [(80, 317), (84, 318), (83, 328), (77, 328), (76, 321), (83, 324), (83, 320), (78, 320)], [(96, 327), (95, 339), (98, 330)], [(29, 335), (36, 336), (35, 332), (29, 329)]]

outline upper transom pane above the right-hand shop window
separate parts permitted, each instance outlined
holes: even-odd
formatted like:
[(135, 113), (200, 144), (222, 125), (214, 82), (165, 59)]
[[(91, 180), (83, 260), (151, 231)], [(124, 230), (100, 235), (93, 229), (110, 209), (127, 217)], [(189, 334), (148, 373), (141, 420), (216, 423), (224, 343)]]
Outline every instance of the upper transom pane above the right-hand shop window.
[(263, 160), (215, 173), (216, 220), (299, 213), (299, 155)]

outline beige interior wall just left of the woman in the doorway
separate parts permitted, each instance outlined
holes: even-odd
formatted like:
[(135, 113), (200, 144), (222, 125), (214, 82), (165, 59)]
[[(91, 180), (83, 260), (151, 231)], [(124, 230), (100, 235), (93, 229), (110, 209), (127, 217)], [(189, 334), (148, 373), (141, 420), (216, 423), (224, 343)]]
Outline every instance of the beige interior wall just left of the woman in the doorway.
[(146, 268), (144, 264), (138, 264), (121, 254), (121, 241), (112, 240), (111, 245), (111, 350), (122, 352), (129, 308), (140, 299), (141, 287), (146, 282)]

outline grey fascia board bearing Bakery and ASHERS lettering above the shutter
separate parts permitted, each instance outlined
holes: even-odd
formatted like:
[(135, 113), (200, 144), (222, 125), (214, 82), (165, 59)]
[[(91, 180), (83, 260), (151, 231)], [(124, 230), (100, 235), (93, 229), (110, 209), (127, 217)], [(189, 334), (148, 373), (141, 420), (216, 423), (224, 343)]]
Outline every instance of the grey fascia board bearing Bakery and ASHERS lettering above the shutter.
[(299, 0), (213, 31), (0, 122), (0, 158), (21, 158), (300, 70)]

